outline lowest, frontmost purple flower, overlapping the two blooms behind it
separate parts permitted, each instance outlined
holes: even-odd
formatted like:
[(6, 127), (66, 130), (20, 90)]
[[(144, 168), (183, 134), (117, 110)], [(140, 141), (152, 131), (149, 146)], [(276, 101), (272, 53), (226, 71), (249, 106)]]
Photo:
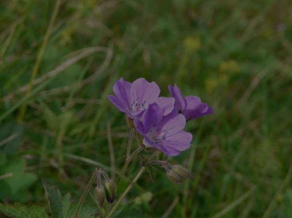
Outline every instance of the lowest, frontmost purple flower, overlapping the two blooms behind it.
[(157, 103), (150, 104), (140, 120), (134, 120), (137, 130), (144, 136), (146, 147), (156, 147), (168, 156), (190, 147), (192, 134), (185, 132), (185, 117), (173, 110), (163, 116), (163, 109)]

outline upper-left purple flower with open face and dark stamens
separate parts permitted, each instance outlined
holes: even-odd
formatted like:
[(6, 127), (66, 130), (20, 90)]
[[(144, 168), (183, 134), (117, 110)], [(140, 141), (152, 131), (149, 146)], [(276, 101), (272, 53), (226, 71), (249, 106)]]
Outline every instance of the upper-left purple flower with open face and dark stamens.
[(148, 105), (156, 102), (163, 111), (163, 115), (169, 114), (174, 108), (174, 98), (158, 97), (160, 88), (156, 82), (148, 82), (144, 78), (136, 79), (133, 83), (124, 78), (114, 83), (115, 96), (108, 95), (111, 102), (132, 119), (141, 118)]

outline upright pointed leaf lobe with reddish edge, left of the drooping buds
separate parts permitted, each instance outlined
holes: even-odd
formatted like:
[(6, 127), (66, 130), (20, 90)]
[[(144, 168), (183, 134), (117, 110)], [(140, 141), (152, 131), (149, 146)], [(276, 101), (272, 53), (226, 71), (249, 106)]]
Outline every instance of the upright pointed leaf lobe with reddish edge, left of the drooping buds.
[(53, 218), (62, 218), (63, 200), (60, 190), (49, 186), (44, 179), (42, 179), (42, 182), (47, 193), (47, 200)]

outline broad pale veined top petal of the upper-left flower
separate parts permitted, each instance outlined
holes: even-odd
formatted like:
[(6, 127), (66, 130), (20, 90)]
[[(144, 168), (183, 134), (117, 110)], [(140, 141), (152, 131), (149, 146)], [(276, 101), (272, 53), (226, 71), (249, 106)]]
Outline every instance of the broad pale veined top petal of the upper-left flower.
[[(160, 88), (156, 82), (148, 82), (144, 78), (136, 79), (131, 86), (131, 104), (135, 101), (135, 104), (141, 104), (141, 109), (151, 103), (153, 103), (159, 96)], [(143, 106), (142, 106), (143, 103)], [(139, 109), (134, 109), (134, 111)]]

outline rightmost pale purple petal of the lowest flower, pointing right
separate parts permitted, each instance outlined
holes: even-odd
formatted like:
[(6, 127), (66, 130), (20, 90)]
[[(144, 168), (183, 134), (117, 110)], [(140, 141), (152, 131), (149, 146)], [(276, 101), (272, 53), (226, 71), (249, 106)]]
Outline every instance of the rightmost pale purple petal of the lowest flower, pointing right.
[(192, 138), (193, 136), (191, 133), (182, 130), (172, 136), (167, 136), (164, 141), (161, 141), (160, 145), (183, 151), (191, 146), (190, 142)]

